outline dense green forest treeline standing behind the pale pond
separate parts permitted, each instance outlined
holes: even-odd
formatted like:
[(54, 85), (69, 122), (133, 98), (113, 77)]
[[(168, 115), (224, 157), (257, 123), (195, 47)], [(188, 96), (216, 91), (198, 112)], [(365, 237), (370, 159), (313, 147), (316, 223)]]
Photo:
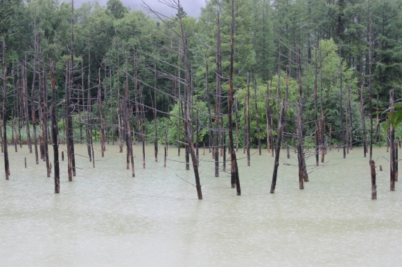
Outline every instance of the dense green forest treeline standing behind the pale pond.
[(327, 147), (387, 142), (385, 116), (371, 114), (390, 107), (391, 90), (401, 98), (398, 0), (211, 0), (198, 18), (171, 0), (161, 4), (172, 16), (119, 0), (0, 4), (2, 138), (9, 125), (15, 144), (25, 129), (29, 147), (46, 145), (53, 82), (67, 142), (86, 142), (89, 158), (93, 140), (102, 153), (125, 143), (133, 176), (132, 140), (154, 142), (155, 160), (158, 145), (185, 147), (186, 168), (192, 146), (209, 147), (216, 176), (227, 147), (250, 165), (250, 147), (274, 155), (281, 140), (308, 180), (306, 147), (318, 165)]

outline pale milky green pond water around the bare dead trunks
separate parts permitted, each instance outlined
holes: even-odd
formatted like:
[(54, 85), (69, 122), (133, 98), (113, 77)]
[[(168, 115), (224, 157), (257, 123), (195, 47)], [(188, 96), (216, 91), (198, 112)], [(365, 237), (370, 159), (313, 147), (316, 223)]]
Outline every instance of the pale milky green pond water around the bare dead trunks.
[[(368, 158), (359, 148), (346, 160), (341, 152), (329, 152), (328, 165), (311, 172), (305, 190), (298, 189), (297, 167), (280, 165), (275, 194), (269, 193), (273, 158), (266, 151), (262, 156), (253, 154), (250, 167), (247, 160), (239, 161), (242, 196), (236, 196), (227, 174), (214, 177), (211, 154), (202, 155), (201, 150), (202, 201), (189, 184), (193, 172), (178, 162), (184, 150), (179, 158), (177, 149), (170, 147), (171, 160), (164, 168), (162, 155), (155, 163), (149, 145), (143, 169), (141, 147), (136, 145), (132, 178), (125, 169), (125, 153), (119, 154), (117, 145), (107, 146), (105, 158), (97, 152), (95, 168), (85, 158), (85, 149), (76, 145), (82, 156), (76, 158), (73, 182), (67, 181), (67, 161), (60, 162), (60, 194), (53, 193), (53, 179), (46, 177), (44, 163), (35, 165), (26, 146), (11, 152), (10, 181), (4, 179), (0, 158), (1, 266), (397, 266), (402, 262), (402, 189), (396, 183), (396, 191), (390, 192), (384, 147), (374, 150), (377, 165), (384, 169), (377, 169), (377, 201), (371, 200)], [(284, 154), (281, 160), (296, 163)]]

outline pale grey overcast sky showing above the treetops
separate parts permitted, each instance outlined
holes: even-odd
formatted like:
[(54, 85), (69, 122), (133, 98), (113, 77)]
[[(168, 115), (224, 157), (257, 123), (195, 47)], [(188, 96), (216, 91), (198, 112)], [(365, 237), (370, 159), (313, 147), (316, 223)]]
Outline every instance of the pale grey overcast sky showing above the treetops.
[[(69, 0), (64, 0), (69, 1)], [(74, 0), (74, 6), (77, 8), (81, 6), (81, 3), (85, 2), (94, 2), (95, 0)], [(159, 3), (157, 0), (144, 0), (148, 6), (151, 8), (155, 8), (158, 12), (162, 12), (165, 15), (172, 15), (176, 14), (176, 12), (172, 12), (171, 8), (167, 8), (163, 4)], [(107, 0), (98, 0), (100, 5), (106, 6)], [(130, 6), (131, 10), (138, 10), (142, 9), (141, 0), (121, 0), (124, 6)], [(187, 12), (188, 15), (192, 17), (198, 17), (201, 12), (201, 8), (205, 6), (205, 0), (180, 0), (184, 10)], [(166, 14), (168, 13), (168, 14)]]

